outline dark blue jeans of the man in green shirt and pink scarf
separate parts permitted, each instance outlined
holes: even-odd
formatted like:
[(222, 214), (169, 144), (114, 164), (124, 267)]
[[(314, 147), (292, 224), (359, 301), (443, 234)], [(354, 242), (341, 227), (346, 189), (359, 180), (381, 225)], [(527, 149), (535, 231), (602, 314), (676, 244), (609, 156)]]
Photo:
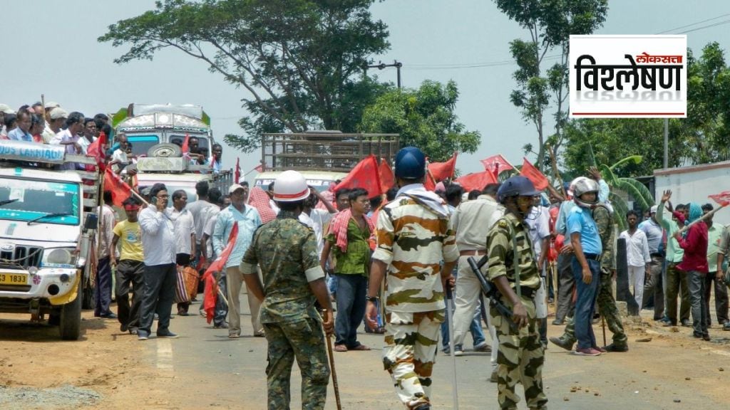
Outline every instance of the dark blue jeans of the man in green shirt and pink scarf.
[(335, 274), (337, 277), (337, 317), (334, 320), (335, 344), (347, 349), (360, 345), (358, 327), (365, 316), (367, 278), (361, 274)]

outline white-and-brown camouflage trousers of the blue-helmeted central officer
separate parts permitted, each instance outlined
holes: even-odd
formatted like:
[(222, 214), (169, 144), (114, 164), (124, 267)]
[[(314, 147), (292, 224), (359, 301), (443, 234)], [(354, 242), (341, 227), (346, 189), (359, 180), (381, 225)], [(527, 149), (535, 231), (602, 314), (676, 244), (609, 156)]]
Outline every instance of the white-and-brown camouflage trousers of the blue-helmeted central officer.
[(429, 403), (431, 372), (444, 311), (385, 314), (383, 365), (408, 409)]

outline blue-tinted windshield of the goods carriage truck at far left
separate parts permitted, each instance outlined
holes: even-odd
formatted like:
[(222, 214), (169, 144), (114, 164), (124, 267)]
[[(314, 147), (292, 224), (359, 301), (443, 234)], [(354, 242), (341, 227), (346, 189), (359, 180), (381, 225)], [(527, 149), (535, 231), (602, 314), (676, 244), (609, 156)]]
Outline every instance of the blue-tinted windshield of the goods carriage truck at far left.
[[(79, 225), (79, 185), (75, 182), (0, 179), (0, 219)], [(55, 216), (51, 216), (51, 214)]]

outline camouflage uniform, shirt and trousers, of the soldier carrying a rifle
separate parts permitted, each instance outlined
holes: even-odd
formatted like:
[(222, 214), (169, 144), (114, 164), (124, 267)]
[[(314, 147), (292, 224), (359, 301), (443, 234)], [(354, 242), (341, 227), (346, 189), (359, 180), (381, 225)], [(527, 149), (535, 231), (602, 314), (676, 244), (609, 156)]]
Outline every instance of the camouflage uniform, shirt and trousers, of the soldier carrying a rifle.
[[(515, 331), (510, 328), (509, 320), (499, 314), (496, 308), (489, 309), (499, 340), (497, 401), (501, 409), (517, 409), (520, 398), (515, 394), (515, 384), (518, 382), (525, 389), (525, 401), (530, 409), (545, 409), (548, 403), (542, 390), (545, 349), (540, 343), (533, 299), (540, 285), (540, 276), (528, 231), (527, 225), (520, 223), (510, 213), (497, 221), (487, 237), (488, 279), (493, 282), (499, 276), (507, 276), (512, 289), (525, 306), (528, 317), (528, 325)], [(515, 269), (515, 263), (518, 269)], [(513, 309), (507, 298), (502, 297), (502, 303)]]

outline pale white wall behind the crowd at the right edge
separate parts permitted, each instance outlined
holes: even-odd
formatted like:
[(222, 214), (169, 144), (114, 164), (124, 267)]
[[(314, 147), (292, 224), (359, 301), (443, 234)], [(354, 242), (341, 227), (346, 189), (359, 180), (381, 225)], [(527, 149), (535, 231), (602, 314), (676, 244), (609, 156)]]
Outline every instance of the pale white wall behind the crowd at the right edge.
[[(707, 196), (730, 190), (730, 161), (703, 163), (693, 166), (654, 170), (654, 193), (656, 202), (664, 190), (672, 190), (672, 204), (710, 203)], [(723, 225), (730, 224), (730, 212), (721, 211), (713, 218)]]

